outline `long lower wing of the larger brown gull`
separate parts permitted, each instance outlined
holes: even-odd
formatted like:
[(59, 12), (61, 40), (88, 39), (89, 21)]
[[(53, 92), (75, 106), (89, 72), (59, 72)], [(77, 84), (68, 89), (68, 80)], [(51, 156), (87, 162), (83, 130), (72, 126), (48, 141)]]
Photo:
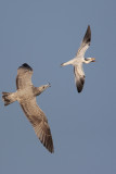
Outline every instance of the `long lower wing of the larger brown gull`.
[(42, 110), (38, 107), (36, 102), (36, 98), (31, 100), (25, 100), (21, 103), (21, 107), (34, 126), (35, 133), (37, 137), (40, 139), (42, 145), (50, 151), (54, 152), (53, 149), (53, 140), (51, 130), (48, 124), (48, 120), (42, 112)]

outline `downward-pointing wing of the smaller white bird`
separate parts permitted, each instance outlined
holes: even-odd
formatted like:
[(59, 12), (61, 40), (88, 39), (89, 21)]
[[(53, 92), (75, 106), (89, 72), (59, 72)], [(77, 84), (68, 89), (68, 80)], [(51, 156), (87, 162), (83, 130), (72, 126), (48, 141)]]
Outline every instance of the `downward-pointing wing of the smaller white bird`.
[(74, 66), (74, 74), (75, 74), (75, 83), (76, 83), (77, 90), (78, 92), (81, 92), (85, 84), (85, 73), (82, 70), (82, 65)]

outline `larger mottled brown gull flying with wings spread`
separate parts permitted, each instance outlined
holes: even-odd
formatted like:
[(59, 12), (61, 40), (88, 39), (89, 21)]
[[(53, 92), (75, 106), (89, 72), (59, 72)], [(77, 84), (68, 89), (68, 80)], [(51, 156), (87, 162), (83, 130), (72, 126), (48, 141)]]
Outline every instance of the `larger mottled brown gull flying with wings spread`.
[(37, 137), (42, 145), (53, 152), (53, 140), (48, 120), (36, 102), (36, 96), (50, 87), (50, 84), (40, 87), (35, 87), (31, 83), (33, 69), (24, 63), (17, 69), (15, 92), (2, 92), (4, 105), (14, 101), (18, 101), (28, 121), (31, 123)]

